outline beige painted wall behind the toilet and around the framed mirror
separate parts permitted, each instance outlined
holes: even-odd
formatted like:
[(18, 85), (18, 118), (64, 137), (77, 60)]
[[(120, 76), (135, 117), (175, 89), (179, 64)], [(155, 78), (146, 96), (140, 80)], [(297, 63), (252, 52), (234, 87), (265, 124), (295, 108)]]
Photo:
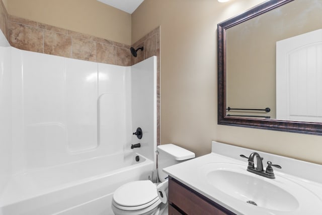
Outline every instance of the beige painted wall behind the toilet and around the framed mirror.
[(217, 125), (217, 23), (261, 2), (145, 0), (133, 13), (132, 41), (160, 25), (162, 144), (200, 156), (217, 140), (322, 164), (322, 136)]

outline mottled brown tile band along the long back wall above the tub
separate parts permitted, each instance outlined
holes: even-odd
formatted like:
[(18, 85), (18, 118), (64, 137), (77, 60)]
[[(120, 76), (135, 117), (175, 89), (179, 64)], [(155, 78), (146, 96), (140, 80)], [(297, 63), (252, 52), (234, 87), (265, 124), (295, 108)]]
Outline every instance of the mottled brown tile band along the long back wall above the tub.
[(131, 65), (130, 46), (9, 15), (9, 43), (19, 49)]

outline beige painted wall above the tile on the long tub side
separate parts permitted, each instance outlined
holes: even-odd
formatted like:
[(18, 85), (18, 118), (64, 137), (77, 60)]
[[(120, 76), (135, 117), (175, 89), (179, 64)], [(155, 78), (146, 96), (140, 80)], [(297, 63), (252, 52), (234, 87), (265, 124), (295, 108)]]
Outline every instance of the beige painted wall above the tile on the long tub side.
[(4, 0), (8, 13), (131, 45), (131, 15), (96, 0)]

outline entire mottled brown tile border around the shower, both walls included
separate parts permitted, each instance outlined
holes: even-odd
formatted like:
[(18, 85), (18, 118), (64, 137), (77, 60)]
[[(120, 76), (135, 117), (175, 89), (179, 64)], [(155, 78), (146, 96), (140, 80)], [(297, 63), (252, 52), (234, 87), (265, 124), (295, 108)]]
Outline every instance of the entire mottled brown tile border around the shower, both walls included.
[(4, 17), (0, 27), (3, 32), (8, 32), (7, 38), (13, 47), (122, 66), (157, 56), (157, 145), (160, 144), (160, 27), (132, 45), (135, 49), (144, 47), (143, 51), (138, 51), (137, 57), (133, 57), (128, 45), (11, 16), (1, 0), (0, 3), (0, 10), (3, 10), (0, 16)]

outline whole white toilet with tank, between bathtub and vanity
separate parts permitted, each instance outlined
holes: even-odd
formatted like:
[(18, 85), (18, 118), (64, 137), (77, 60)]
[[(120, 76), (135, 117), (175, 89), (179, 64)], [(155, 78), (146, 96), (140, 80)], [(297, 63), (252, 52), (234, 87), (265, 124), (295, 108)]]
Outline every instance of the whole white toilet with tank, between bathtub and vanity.
[[(158, 177), (161, 182), (168, 179), (163, 168), (195, 157), (195, 154), (173, 144), (157, 147)], [(112, 210), (116, 215), (157, 215), (167, 204), (162, 203), (156, 191), (157, 184), (150, 180), (133, 181), (119, 187), (113, 195)], [(168, 214), (168, 213), (167, 213)]]

